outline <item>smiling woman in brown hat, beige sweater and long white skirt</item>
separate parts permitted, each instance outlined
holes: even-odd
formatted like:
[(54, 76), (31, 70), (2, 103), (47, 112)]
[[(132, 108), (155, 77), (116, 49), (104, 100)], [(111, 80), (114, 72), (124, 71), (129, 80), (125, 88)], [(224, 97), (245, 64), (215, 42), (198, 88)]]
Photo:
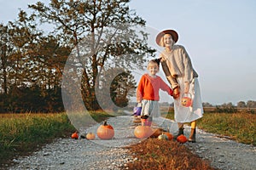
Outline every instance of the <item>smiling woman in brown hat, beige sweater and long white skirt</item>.
[[(174, 30), (161, 31), (156, 43), (163, 47), (160, 54), (161, 65), (168, 82), (173, 89), (174, 118), (178, 125), (178, 133), (183, 134), (183, 123), (191, 122), (189, 142), (195, 142), (196, 120), (203, 115), (198, 74), (194, 70), (189, 54), (181, 45), (176, 45), (178, 35)], [(184, 104), (183, 97), (192, 99), (191, 105)]]

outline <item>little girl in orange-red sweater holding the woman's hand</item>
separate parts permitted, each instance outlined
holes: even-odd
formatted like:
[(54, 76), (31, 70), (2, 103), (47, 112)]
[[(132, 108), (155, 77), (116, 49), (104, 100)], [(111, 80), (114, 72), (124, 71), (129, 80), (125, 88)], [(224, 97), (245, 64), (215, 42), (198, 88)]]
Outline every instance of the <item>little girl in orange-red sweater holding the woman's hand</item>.
[[(172, 95), (172, 89), (156, 73), (159, 71), (160, 59), (152, 59), (148, 62), (148, 74), (144, 74), (137, 87), (137, 103), (142, 105), (141, 118), (146, 119), (146, 125), (150, 126), (152, 117), (160, 116), (159, 90), (162, 89)], [(148, 122), (148, 123), (147, 123)]]

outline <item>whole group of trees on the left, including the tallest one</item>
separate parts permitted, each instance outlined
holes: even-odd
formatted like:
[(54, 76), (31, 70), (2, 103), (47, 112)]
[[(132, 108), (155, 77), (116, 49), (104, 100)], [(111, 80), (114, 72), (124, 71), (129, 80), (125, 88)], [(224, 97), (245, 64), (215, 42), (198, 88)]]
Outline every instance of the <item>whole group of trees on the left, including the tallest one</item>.
[[(127, 105), (136, 88), (131, 70), (155, 52), (147, 34), (136, 32), (145, 20), (129, 2), (38, 2), (28, 5), (30, 14), (20, 9), (17, 20), (0, 24), (0, 112), (59, 112), (75, 108), (79, 97), (88, 110)], [(113, 104), (99, 104), (96, 94)]]

